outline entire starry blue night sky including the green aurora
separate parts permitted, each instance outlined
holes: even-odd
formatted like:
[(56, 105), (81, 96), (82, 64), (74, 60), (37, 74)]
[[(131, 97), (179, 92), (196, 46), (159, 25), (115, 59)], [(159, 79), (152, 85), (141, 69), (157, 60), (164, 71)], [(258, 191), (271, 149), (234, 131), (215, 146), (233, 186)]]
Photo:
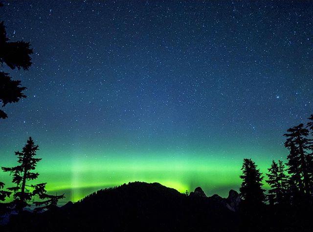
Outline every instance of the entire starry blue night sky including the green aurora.
[(67, 200), (131, 181), (226, 196), (313, 113), (313, 1), (4, 1), (0, 18), (34, 49), (1, 67), (28, 97), (4, 108), (0, 165), (33, 137), (38, 182)]

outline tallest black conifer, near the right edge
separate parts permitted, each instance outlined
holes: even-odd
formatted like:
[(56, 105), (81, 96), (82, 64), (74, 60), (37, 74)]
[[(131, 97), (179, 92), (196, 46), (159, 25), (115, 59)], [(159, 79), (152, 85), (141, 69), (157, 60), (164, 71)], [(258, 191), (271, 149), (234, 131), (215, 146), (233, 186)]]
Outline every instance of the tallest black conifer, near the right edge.
[(310, 148), (310, 139), (308, 139), (309, 130), (303, 127), (303, 124), (289, 128), (284, 134), (287, 137), (285, 147), (290, 150), (287, 157), (288, 172), (291, 174), (291, 180), (298, 186), (300, 194), (307, 197), (311, 194), (312, 175), (309, 170), (312, 161), (312, 154), (308, 153)]

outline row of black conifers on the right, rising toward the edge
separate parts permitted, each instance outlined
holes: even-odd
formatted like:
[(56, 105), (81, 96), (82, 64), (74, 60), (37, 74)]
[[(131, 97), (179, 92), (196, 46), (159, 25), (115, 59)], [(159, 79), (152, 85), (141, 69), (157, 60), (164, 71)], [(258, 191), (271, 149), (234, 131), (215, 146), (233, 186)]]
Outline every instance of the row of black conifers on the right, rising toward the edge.
[(241, 168), (243, 180), (240, 193), (249, 205), (259, 205), (268, 200), (274, 204), (312, 203), (313, 199), (313, 115), (309, 122), (291, 127), (284, 134), (289, 150), (287, 162), (272, 161), (266, 182), (270, 186), (265, 194), (262, 173), (251, 159), (244, 159)]

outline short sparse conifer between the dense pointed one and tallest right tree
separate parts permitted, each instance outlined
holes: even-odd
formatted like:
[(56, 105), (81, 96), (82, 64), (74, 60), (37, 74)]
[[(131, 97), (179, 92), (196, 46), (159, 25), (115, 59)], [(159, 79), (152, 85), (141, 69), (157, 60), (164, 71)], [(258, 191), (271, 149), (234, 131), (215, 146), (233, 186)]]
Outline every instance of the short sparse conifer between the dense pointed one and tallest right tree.
[(288, 184), (285, 165), (280, 160), (278, 163), (272, 161), (270, 168), (268, 168), (268, 172), (268, 180), (266, 182), (271, 187), (271, 189), (268, 190), (271, 203), (282, 203)]

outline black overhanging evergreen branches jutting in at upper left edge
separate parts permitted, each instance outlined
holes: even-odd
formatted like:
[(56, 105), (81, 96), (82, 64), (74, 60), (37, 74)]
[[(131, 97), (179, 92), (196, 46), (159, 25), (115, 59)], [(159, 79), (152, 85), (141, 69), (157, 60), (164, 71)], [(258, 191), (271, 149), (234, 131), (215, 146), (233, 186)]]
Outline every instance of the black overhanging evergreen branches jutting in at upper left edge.
[[(2, 6), (2, 5), (0, 5)], [(10, 42), (6, 36), (5, 26), (0, 22), (0, 65), (5, 63), (14, 70), (28, 70), (31, 66), (31, 57), (33, 53), (30, 44), (24, 41)], [(3, 71), (0, 71), (0, 104), (4, 107), (7, 103), (18, 102), (26, 97), (22, 93), (25, 87), (20, 87), (21, 81), (14, 81)], [(0, 118), (6, 118), (7, 114), (0, 110)]]

